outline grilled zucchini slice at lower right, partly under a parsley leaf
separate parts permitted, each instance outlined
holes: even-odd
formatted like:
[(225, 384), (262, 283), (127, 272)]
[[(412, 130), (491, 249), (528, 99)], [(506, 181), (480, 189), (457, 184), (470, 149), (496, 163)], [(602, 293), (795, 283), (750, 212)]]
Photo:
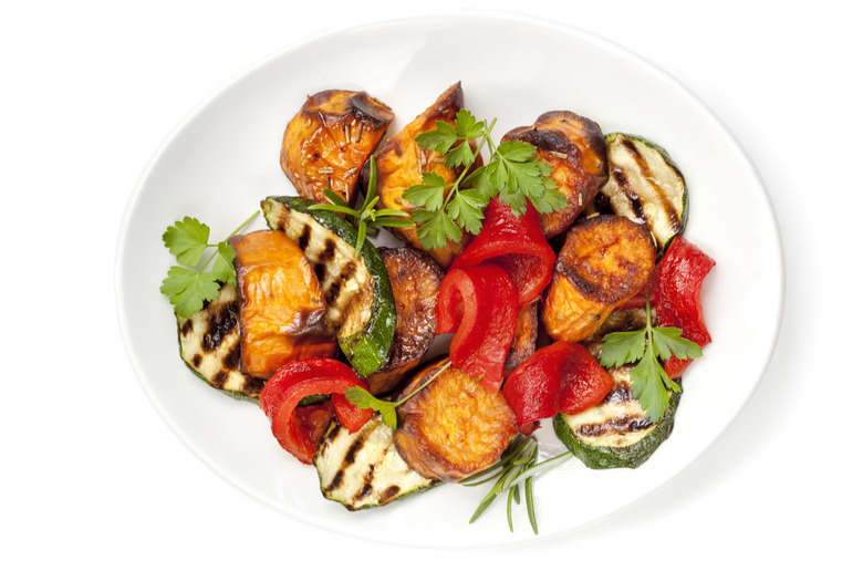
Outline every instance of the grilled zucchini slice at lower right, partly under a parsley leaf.
[(554, 434), (589, 468), (636, 468), (672, 434), (683, 391), (669, 392), (665, 415), (653, 424), (630, 389), (632, 368), (609, 371), (614, 388), (597, 405), (578, 415), (559, 413), (553, 419)]

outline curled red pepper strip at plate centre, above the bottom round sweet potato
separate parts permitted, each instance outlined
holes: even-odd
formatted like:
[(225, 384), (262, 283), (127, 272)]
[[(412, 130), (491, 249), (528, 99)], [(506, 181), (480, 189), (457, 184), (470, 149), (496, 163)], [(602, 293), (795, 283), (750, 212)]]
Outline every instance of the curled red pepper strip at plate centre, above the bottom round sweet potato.
[(455, 333), (453, 364), (497, 392), (516, 335), (516, 287), (495, 264), (450, 269), (440, 283), (435, 309), (437, 334)]

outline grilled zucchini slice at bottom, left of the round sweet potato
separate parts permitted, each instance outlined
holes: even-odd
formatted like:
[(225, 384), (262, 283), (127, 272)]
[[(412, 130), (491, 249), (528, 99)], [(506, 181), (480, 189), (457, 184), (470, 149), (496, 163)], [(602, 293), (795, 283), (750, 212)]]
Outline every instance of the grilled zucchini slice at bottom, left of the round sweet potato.
[(405, 464), (393, 445), (393, 429), (378, 415), (354, 434), (331, 422), (312, 463), (324, 498), (347, 510), (382, 507), (440, 482)]

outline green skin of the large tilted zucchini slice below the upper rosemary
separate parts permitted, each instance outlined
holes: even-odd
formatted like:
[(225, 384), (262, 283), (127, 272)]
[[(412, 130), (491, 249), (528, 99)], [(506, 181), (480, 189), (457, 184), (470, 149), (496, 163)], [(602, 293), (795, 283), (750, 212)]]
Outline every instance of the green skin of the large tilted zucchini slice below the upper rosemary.
[[(309, 210), (310, 206), (316, 204), (316, 201), (303, 197), (267, 197), (261, 201), (261, 209), (268, 226), (272, 229), (285, 230), (289, 237), (292, 237), (291, 232), (288, 232), (287, 228), (282, 228), (280, 224), (283, 217), (297, 212), (310, 216), (320, 226), (335, 233), (353, 248), (357, 239), (356, 229), (347, 220), (330, 210)], [(299, 240), (294, 239), (294, 241)], [(318, 262), (318, 256), (310, 254), (303, 248), (303, 243), (299, 245), (314, 267)], [(381, 254), (371, 242), (363, 243), (360, 261), (357, 267), (364, 267), (372, 278), (371, 314), (360, 330), (353, 333), (342, 333), (340, 330), (337, 336), (339, 346), (351, 365), (361, 377), (366, 377), (389, 360), (389, 347), (395, 334), (396, 311), (389, 274)], [(315, 271), (318, 271), (316, 268)], [(327, 298), (326, 292), (324, 298)], [(327, 304), (330, 303), (327, 299)]]

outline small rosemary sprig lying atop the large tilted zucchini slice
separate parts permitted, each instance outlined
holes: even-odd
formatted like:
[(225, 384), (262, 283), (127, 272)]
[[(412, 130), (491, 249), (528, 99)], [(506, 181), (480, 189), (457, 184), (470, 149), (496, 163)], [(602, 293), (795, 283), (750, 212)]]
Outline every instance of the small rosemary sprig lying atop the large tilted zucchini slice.
[(416, 226), (416, 224), (409, 220), (410, 215), (404, 210), (392, 208), (376, 209), (375, 205), (381, 199), (381, 197), (375, 196), (376, 188), (377, 166), (375, 165), (375, 157), (372, 156), (368, 162), (368, 190), (360, 210), (351, 208), (341, 195), (330, 189), (324, 189), (323, 194), (331, 202), (309, 207), (309, 210), (332, 210), (333, 212), (342, 212), (347, 217), (347, 221), (356, 228), (356, 246), (354, 248), (354, 257), (356, 258), (360, 257), (366, 236), (374, 238), (377, 235), (378, 227), (404, 228)]

